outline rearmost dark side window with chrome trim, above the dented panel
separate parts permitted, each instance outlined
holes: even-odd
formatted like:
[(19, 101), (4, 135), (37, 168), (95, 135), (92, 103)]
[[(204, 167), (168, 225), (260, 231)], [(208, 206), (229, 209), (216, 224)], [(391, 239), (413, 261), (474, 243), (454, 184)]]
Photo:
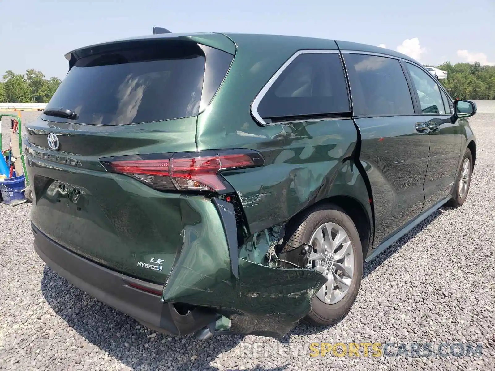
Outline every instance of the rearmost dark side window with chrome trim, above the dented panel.
[(350, 104), (338, 53), (298, 55), (258, 105), (264, 119), (345, 112)]

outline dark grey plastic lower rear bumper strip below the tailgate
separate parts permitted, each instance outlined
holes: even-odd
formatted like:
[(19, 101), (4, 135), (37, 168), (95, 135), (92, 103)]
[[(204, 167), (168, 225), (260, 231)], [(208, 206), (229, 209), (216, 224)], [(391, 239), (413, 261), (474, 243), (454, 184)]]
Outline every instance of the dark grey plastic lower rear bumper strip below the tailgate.
[[(36, 252), (51, 269), (76, 287), (149, 328), (186, 335), (218, 318), (214, 311), (205, 308), (196, 308), (182, 316), (172, 304), (163, 303), (160, 295), (151, 293), (161, 292), (163, 286), (122, 275), (82, 258), (49, 239), (35, 226), (33, 234)], [(145, 288), (151, 292), (145, 291)]]

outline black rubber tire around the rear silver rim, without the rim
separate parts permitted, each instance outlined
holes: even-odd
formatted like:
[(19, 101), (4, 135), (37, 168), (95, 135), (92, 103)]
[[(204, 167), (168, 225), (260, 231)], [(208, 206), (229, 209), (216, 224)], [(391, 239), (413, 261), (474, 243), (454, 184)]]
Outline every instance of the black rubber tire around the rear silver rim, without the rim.
[(349, 216), (340, 207), (332, 204), (320, 205), (292, 221), (287, 228), (287, 243), (283, 249), (292, 250), (302, 243), (309, 244), (311, 235), (324, 223), (335, 223), (343, 227), (352, 243), (354, 254), (354, 271), (347, 294), (335, 304), (326, 304), (314, 296), (311, 301), (311, 310), (304, 317), (304, 321), (311, 325), (333, 325), (341, 321), (349, 313), (356, 300), (363, 273), (363, 251), (357, 229)]

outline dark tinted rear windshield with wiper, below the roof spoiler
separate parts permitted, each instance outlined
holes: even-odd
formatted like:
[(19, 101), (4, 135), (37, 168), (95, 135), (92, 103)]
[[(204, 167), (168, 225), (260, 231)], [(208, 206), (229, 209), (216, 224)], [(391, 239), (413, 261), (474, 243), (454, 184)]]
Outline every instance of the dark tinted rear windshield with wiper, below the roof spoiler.
[[(124, 125), (195, 116), (220, 86), (232, 58), (218, 49), (182, 41), (141, 43), (86, 56), (77, 60), (47, 105), (72, 110), (79, 117), (45, 118)], [(215, 66), (205, 77), (206, 59)], [(208, 96), (201, 99), (203, 80)], [(212, 80), (215, 87), (209, 86)]]

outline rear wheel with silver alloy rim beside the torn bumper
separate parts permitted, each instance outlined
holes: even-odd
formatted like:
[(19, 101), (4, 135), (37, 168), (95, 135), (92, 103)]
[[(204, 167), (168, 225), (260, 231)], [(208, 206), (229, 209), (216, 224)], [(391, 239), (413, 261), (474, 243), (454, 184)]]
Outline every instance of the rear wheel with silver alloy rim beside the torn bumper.
[(339, 322), (350, 311), (361, 285), (363, 255), (354, 223), (341, 208), (325, 205), (302, 215), (288, 232), (285, 249), (302, 243), (312, 246), (307, 268), (327, 278), (304, 320), (312, 325)]

